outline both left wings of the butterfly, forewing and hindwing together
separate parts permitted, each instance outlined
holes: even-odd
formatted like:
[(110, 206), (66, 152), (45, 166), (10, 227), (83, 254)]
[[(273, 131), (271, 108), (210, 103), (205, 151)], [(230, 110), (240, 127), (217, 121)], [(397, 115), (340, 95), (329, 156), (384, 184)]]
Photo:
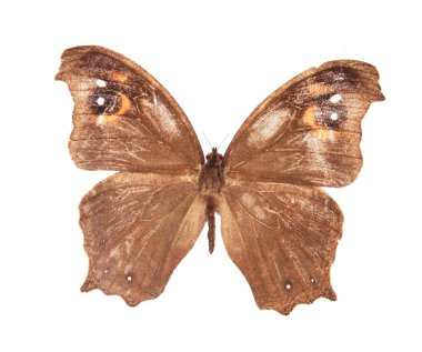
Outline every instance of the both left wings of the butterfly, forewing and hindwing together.
[(66, 50), (57, 79), (74, 100), (69, 150), (76, 164), (122, 171), (81, 201), (89, 257), (81, 290), (119, 294), (130, 305), (153, 299), (205, 222), (198, 138), (167, 90), (111, 50)]

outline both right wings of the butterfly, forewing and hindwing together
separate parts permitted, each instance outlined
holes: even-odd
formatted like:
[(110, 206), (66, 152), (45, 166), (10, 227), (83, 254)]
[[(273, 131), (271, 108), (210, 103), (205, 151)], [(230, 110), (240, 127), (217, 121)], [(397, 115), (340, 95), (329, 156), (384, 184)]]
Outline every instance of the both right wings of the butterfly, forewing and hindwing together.
[(320, 296), (335, 300), (330, 266), (343, 218), (318, 187), (358, 175), (361, 120), (383, 100), (378, 79), (360, 61), (308, 70), (267, 98), (229, 145), (223, 239), (261, 309), (288, 314)]

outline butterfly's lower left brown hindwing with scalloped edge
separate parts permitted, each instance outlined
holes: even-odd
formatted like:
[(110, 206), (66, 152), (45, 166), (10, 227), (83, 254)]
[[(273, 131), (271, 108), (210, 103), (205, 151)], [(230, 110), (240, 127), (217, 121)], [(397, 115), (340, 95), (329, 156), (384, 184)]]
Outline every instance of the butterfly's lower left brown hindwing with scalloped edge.
[(129, 305), (158, 296), (205, 222), (198, 180), (120, 172), (81, 201), (89, 257), (81, 290), (119, 294)]

